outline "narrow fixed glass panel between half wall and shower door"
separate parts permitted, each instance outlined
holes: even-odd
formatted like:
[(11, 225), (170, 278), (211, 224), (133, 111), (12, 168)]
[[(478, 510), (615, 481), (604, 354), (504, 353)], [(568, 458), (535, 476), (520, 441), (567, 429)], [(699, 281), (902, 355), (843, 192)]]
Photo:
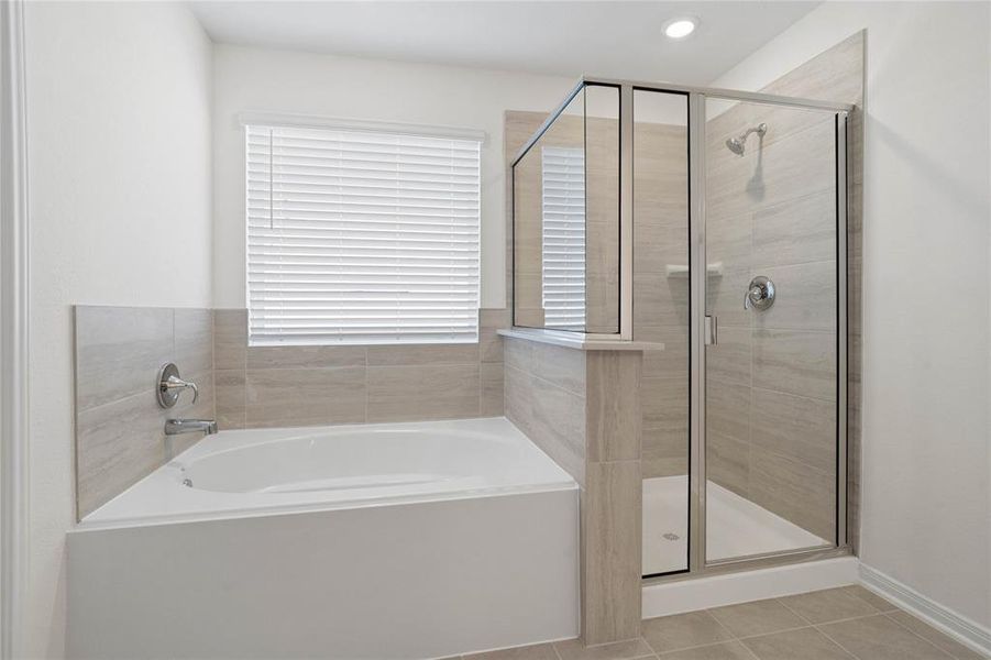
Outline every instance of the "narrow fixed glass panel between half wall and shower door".
[(689, 568), (687, 97), (634, 92), (634, 338), (643, 356), (645, 575)]

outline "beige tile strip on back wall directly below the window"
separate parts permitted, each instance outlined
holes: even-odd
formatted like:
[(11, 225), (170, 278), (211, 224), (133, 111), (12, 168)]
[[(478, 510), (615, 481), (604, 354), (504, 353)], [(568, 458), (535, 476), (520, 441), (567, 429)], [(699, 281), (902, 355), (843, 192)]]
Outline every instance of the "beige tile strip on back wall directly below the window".
[(505, 309), (482, 309), (477, 343), (249, 346), (247, 311), (214, 311), (221, 429), (496, 417)]

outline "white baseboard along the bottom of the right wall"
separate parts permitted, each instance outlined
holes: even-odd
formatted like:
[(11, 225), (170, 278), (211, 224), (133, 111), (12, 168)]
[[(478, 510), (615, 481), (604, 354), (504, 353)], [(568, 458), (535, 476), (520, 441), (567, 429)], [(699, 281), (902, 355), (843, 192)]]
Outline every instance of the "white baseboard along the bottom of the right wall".
[(983, 656), (991, 656), (991, 629), (863, 563), (860, 564), (860, 583), (960, 644)]

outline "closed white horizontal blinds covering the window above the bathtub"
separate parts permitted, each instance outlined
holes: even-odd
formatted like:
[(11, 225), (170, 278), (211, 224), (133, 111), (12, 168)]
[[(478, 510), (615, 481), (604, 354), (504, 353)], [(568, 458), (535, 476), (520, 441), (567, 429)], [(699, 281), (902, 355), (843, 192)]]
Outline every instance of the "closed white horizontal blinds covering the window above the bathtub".
[(477, 341), (477, 140), (246, 127), (250, 342)]

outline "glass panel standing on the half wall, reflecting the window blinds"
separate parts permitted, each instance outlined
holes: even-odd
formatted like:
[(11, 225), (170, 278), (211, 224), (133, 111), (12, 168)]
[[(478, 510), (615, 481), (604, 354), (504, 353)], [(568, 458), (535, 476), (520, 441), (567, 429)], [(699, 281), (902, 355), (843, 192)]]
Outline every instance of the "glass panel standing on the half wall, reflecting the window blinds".
[(514, 324), (619, 332), (619, 90), (582, 89), (513, 187)]

